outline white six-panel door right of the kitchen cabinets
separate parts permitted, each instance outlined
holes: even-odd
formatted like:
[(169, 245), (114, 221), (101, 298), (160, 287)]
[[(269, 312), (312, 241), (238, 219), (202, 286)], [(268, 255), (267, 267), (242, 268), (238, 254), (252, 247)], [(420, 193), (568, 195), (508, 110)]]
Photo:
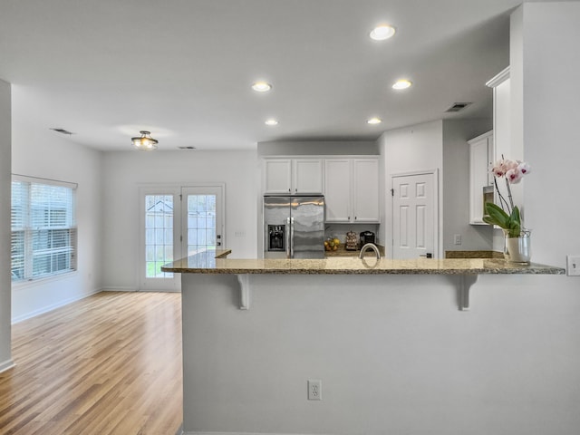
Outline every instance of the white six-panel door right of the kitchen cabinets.
[(392, 257), (437, 256), (435, 174), (392, 177)]

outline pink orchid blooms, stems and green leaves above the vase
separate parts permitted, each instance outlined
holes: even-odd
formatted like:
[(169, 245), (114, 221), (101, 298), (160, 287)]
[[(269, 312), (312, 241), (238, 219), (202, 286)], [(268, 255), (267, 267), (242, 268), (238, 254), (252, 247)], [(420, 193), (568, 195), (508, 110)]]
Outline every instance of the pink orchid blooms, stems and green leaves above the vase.
[[(499, 205), (486, 202), (486, 216), (483, 221), (489, 225), (497, 225), (504, 230), (506, 237), (520, 237), (522, 234), (522, 222), (519, 208), (514, 206), (511, 196), (511, 184), (517, 184), (530, 172), (530, 167), (525, 161), (498, 160), (491, 169), (494, 177), (496, 192), (498, 193)], [(498, 189), (498, 179), (506, 179), (507, 200)]]

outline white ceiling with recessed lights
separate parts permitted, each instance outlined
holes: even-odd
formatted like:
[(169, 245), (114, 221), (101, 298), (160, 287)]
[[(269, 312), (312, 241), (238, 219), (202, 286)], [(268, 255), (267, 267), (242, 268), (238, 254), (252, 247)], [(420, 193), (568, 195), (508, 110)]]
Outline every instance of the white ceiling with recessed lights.
[[(491, 116), (518, 0), (0, 0), (0, 78), (31, 128), (98, 150), (375, 139)], [(372, 41), (375, 24), (397, 33)], [(414, 85), (395, 92), (391, 84)], [(250, 89), (257, 79), (271, 92)], [(454, 102), (473, 102), (445, 114)], [(17, 110), (17, 109), (15, 109)], [(371, 126), (366, 120), (379, 116)], [(275, 117), (279, 124), (264, 124)]]

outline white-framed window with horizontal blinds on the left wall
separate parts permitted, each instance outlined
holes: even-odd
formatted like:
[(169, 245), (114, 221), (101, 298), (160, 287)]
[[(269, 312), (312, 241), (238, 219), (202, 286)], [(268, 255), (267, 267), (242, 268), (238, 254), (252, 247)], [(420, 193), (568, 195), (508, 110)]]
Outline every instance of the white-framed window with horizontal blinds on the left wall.
[(14, 176), (12, 281), (76, 270), (76, 185)]

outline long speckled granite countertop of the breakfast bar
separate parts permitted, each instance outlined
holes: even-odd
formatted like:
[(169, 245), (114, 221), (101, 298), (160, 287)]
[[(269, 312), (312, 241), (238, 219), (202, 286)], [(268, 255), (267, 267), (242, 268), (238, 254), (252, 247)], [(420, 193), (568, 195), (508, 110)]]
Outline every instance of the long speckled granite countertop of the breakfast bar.
[[(497, 258), (391, 260), (335, 256), (324, 259), (225, 258), (229, 250), (208, 250), (161, 267), (164, 272), (190, 274), (285, 275), (563, 275), (555, 266), (520, 265)], [(216, 256), (221, 256), (217, 258)]]

